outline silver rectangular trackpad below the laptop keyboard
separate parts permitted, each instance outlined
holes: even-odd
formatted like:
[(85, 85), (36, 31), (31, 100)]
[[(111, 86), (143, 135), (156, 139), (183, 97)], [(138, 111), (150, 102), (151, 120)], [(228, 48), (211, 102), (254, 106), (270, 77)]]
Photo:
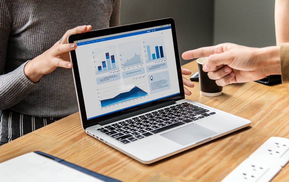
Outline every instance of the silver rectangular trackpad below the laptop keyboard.
[(202, 139), (207, 139), (209, 136), (216, 134), (213, 130), (205, 128), (199, 124), (192, 123), (190, 125), (175, 129), (173, 131), (161, 134), (161, 136), (174, 141), (180, 145), (188, 145)]

